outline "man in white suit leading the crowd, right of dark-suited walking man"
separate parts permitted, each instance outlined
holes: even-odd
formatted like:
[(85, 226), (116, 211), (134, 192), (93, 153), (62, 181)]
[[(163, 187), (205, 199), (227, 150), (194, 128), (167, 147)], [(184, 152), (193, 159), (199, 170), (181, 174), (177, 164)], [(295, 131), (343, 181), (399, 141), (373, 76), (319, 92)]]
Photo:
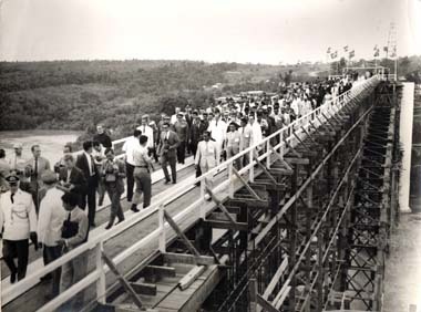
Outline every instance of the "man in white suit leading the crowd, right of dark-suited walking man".
[[(195, 157), (195, 166), (201, 166), (202, 175), (215, 168), (219, 165), (218, 147), (214, 141), (210, 141), (210, 133), (205, 131), (203, 133), (203, 141), (197, 145), (197, 152)], [(212, 189), (212, 177), (206, 178), (205, 183), (208, 188)]]

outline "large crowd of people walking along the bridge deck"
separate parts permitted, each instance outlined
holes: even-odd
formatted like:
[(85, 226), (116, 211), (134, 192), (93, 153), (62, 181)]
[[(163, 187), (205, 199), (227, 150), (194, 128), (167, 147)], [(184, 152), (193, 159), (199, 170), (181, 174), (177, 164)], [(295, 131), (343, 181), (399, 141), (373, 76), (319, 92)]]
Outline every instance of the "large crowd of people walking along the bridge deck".
[[(42, 248), (44, 264), (85, 242), (105, 194), (111, 201), (105, 227), (110, 229), (115, 219), (124, 221), (124, 190), (133, 212), (140, 211), (142, 197), (143, 208), (151, 205), (151, 174), (157, 164), (165, 184), (177, 183), (176, 164), (185, 164), (186, 155), (194, 157), (196, 176), (205, 174), (351, 85), (347, 77), (294, 83), (276, 94), (244, 93), (219, 98), (210, 107), (177, 107), (173, 115), (162, 114), (160, 121), (144, 115), (124, 142), (124, 159), (115, 157), (103, 125), (97, 125), (92, 141), (83, 143), (82, 153), (75, 154), (65, 145), (63, 157), (53, 167), (41, 156), (39, 145), (31, 147), (30, 159), (22, 156), (21, 144), (13, 146), (12, 155), (0, 148), (0, 228), (11, 283), (25, 277), (29, 241), (35, 250)], [(248, 164), (248, 157), (237, 159), (235, 167)], [(212, 188), (212, 178), (205, 184)], [(57, 269), (45, 277), (52, 279), (49, 297), (83, 277), (86, 262), (80, 257), (66, 264), (65, 274)], [(83, 301), (80, 295), (75, 304)]]

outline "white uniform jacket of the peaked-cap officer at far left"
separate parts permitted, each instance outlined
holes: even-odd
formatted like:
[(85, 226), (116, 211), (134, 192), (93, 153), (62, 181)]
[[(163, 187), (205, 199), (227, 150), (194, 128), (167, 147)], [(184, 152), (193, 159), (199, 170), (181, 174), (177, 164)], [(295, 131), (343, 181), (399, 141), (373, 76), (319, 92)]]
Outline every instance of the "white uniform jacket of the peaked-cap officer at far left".
[(32, 196), (21, 189), (10, 198), (10, 190), (0, 196), (0, 229), (4, 227), (3, 239), (23, 240), (37, 230), (37, 212)]

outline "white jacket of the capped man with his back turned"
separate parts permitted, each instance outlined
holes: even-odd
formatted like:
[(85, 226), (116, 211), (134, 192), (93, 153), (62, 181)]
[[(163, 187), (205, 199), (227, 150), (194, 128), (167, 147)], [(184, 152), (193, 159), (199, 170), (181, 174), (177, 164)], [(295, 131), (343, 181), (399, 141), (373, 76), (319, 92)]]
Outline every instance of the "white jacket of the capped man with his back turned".
[(63, 194), (60, 189), (51, 188), (40, 204), (37, 228), (38, 241), (49, 247), (57, 246), (57, 241), (61, 239), (63, 221), (68, 216), (62, 206), (61, 197)]

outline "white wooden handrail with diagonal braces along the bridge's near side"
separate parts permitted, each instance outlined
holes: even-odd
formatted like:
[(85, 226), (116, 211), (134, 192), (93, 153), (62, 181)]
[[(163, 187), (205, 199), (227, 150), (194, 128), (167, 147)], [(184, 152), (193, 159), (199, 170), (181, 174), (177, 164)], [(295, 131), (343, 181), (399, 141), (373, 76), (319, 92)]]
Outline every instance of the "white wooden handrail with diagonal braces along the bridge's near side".
[[(38, 283), (39, 279), (57, 268), (63, 266), (68, 261), (79, 257), (81, 253), (86, 252), (91, 249), (95, 248), (96, 252), (96, 268), (89, 273), (86, 277), (84, 277), (81, 281), (78, 283), (71, 285), (66, 291), (54, 298), (52, 301), (48, 302), (44, 306), (40, 309), (40, 311), (52, 311), (63, 304), (66, 300), (69, 300), (72, 295), (78, 293), (79, 291), (84, 290), (86, 287), (96, 283), (96, 299), (100, 302), (105, 302), (104, 295), (106, 291), (106, 285), (105, 285), (105, 274), (109, 271), (107, 267), (104, 264), (104, 262), (101, 259), (101, 252), (103, 250), (103, 243), (111, 238), (115, 237), (116, 235), (127, 230), (129, 228), (133, 227), (134, 225), (141, 222), (145, 218), (150, 217), (151, 215), (157, 212), (160, 209), (163, 209), (166, 205), (175, 200), (175, 198), (178, 198), (179, 196), (183, 196), (187, 191), (192, 189), (192, 185), (195, 185), (196, 183), (202, 181), (201, 184), (201, 197), (193, 202), (191, 206), (186, 207), (183, 211), (177, 214), (174, 218), (174, 220), (177, 222), (182, 220), (185, 216), (194, 212), (197, 210), (198, 207), (198, 214), (196, 215), (197, 219), (199, 217), (205, 217), (207, 211), (205, 210), (205, 205), (203, 205), (205, 201), (205, 179), (206, 178), (212, 178), (215, 174), (219, 171), (224, 171), (225, 169), (228, 169), (228, 179), (223, 180), (218, 186), (214, 188), (215, 191), (220, 191), (223, 189), (226, 189), (227, 187), (232, 187), (233, 179), (232, 177), (232, 168), (234, 165), (234, 162), (237, 160), (238, 158), (243, 157), (246, 154), (249, 154), (249, 164), (245, 167), (243, 167), (239, 173), (244, 174), (247, 173), (249, 174), (249, 180), (254, 180), (254, 165), (256, 160), (254, 159), (255, 150), (256, 148), (259, 148), (260, 146), (266, 146), (266, 152), (258, 156), (258, 159), (265, 159), (267, 157), (270, 157), (271, 155), (271, 149), (270, 147), (270, 139), (279, 136), (280, 137), (280, 143), (274, 147), (275, 150), (280, 150), (280, 154), (284, 155), (285, 153), (285, 144), (283, 143), (284, 134), (287, 134), (288, 137), (286, 138), (287, 142), (290, 145), (296, 145), (297, 144), (297, 138), (292, 135), (292, 132), (296, 129), (296, 134), (299, 136), (304, 137), (306, 133), (302, 132), (301, 127), (309, 129), (309, 122), (311, 121), (314, 125), (319, 126), (320, 123), (318, 122), (317, 117), (321, 117), (321, 113), (328, 114), (328, 115), (335, 115), (347, 102), (348, 100), (355, 98), (360, 92), (371, 85), (377, 84), (378, 77), (373, 76), (364, 83), (361, 83), (360, 85), (357, 85), (352, 87), (351, 90), (342, 93), (341, 95), (335, 97), (333, 100), (322, 104), (321, 106), (317, 107), (316, 110), (311, 111), (307, 115), (300, 117), (299, 119), (296, 119), (291, 124), (283, 127), (281, 129), (277, 131), (276, 133), (269, 135), (268, 137), (264, 138), (260, 143), (257, 143), (245, 150), (242, 150), (234, 157), (225, 160), (224, 163), (219, 164), (217, 167), (212, 169), (210, 171), (202, 175), (201, 177), (197, 177), (195, 179), (187, 179), (182, 181), (177, 187), (175, 187), (172, 191), (168, 193), (168, 195), (164, 196), (163, 198), (157, 199), (155, 202), (152, 204), (148, 208), (142, 210), (140, 214), (134, 214), (131, 217), (129, 217), (124, 222), (116, 225), (115, 227), (111, 228), (110, 230), (92, 238), (88, 242), (81, 245), (80, 247), (75, 248), (74, 250), (63, 254), (60, 257), (58, 260), (54, 260), (53, 262), (49, 263), (41, 270), (38, 270), (37, 272), (33, 272), (29, 275), (25, 277), (25, 279), (14, 283), (10, 288), (3, 290), (2, 292), (2, 304), (7, 304), (10, 301), (12, 301), (17, 295), (17, 293), (20, 291), (22, 287), (24, 287), (25, 283), (29, 284), (34, 284)], [(123, 139), (120, 139), (121, 142)], [(267, 162), (267, 166), (270, 166), (270, 162)], [(230, 196), (233, 196), (232, 191), (229, 193)], [(201, 205), (202, 204), (202, 205)], [(163, 217), (163, 214), (157, 214), (158, 217)], [(197, 220), (196, 219), (196, 220)], [(165, 250), (165, 245), (167, 241), (167, 232), (170, 231), (170, 226), (167, 222), (164, 222), (163, 220), (160, 219), (160, 227), (150, 232), (147, 236), (145, 236), (143, 239), (137, 241), (135, 245), (129, 247), (124, 251), (122, 251), (119, 256), (116, 256), (113, 261), (119, 264), (121, 263), (124, 259), (126, 259), (129, 256), (133, 254), (136, 250), (138, 250), (142, 246), (147, 245), (148, 242), (158, 239), (160, 240), (160, 247), (161, 249)], [(170, 232), (171, 235), (171, 232)], [(163, 251), (164, 251), (163, 250)]]

